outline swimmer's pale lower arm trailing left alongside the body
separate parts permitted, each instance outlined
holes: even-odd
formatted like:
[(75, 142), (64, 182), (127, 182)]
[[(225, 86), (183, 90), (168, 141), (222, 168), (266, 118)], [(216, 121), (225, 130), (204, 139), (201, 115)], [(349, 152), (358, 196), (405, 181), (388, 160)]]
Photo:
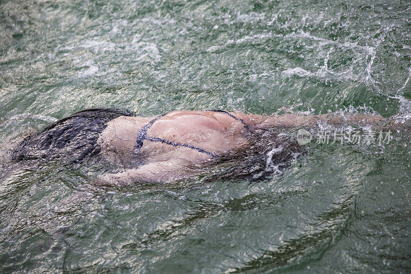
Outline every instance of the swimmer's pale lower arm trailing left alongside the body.
[(167, 182), (190, 175), (185, 167), (170, 161), (148, 163), (138, 169), (126, 169), (118, 173), (107, 173), (100, 176), (95, 185), (125, 186), (136, 182)]

